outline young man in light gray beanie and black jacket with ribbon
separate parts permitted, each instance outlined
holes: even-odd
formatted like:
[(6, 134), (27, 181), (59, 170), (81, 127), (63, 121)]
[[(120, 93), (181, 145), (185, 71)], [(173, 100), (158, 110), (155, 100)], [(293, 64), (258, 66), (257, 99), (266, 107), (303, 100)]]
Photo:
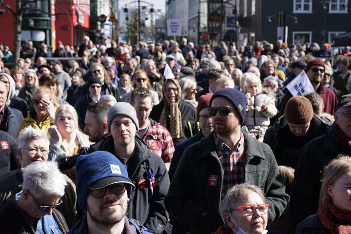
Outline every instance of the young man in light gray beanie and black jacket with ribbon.
[(107, 113), (110, 136), (91, 145), (88, 152), (107, 151), (121, 161), (135, 185), (128, 202), (128, 218), (139, 220), (149, 232), (162, 234), (168, 224), (164, 205), (170, 184), (168, 172), (162, 158), (137, 136), (138, 129), (134, 107), (117, 102)]

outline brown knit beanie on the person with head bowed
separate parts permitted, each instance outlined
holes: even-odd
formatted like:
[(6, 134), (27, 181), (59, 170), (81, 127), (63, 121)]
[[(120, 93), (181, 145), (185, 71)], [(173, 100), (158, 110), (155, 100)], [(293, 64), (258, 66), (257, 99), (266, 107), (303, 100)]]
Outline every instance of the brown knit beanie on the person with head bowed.
[(285, 107), (284, 117), (292, 124), (307, 124), (313, 117), (310, 100), (302, 96), (290, 98)]

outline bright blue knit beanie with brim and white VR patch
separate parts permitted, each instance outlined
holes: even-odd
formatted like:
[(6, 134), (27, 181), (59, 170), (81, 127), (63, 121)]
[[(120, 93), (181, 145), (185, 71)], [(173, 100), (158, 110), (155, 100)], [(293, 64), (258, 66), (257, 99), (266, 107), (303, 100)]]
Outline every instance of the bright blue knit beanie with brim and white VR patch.
[(79, 156), (76, 164), (77, 200), (79, 206), (86, 210), (88, 188), (104, 188), (115, 183), (124, 183), (128, 197), (134, 184), (128, 177), (124, 165), (109, 152), (96, 151)]

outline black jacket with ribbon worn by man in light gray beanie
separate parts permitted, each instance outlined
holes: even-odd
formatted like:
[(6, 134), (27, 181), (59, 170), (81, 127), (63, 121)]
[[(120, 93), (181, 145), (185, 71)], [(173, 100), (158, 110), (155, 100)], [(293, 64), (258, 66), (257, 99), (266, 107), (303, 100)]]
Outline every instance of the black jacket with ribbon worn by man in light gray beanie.
[[(139, 137), (135, 137), (135, 155), (128, 160), (128, 175), (135, 184), (128, 204), (128, 218), (140, 221), (151, 233), (162, 234), (168, 222), (168, 213), (164, 198), (168, 193), (170, 180), (161, 157), (156, 156)], [(114, 154), (114, 139), (105, 137), (102, 141), (91, 145), (88, 153), (102, 150)], [(150, 195), (150, 187), (138, 186), (141, 179), (148, 181), (148, 171), (155, 176), (154, 192)]]

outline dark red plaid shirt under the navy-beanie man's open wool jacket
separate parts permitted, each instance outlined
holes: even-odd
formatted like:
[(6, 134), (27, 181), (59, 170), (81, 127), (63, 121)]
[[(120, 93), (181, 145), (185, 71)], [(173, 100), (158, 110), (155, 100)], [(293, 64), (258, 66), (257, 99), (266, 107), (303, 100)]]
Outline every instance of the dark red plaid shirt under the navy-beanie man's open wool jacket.
[(240, 140), (232, 151), (214, 134), (216, 153), (223, 168), (222, 199), (232, 186), (245, 182), (244, 153), (246, 144), (244, 134), (240, 133)]

